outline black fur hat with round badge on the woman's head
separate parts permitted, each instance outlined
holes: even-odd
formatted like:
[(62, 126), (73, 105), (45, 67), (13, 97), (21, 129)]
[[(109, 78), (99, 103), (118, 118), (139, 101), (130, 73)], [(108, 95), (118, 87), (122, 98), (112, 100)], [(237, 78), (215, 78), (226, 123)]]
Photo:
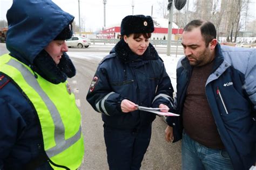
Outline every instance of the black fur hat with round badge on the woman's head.
[(152, 33), (154, 23), (150, 16), (133, 15), (126, 16), (121, 23), (121, 35), (128, 36), (132, 33)]

